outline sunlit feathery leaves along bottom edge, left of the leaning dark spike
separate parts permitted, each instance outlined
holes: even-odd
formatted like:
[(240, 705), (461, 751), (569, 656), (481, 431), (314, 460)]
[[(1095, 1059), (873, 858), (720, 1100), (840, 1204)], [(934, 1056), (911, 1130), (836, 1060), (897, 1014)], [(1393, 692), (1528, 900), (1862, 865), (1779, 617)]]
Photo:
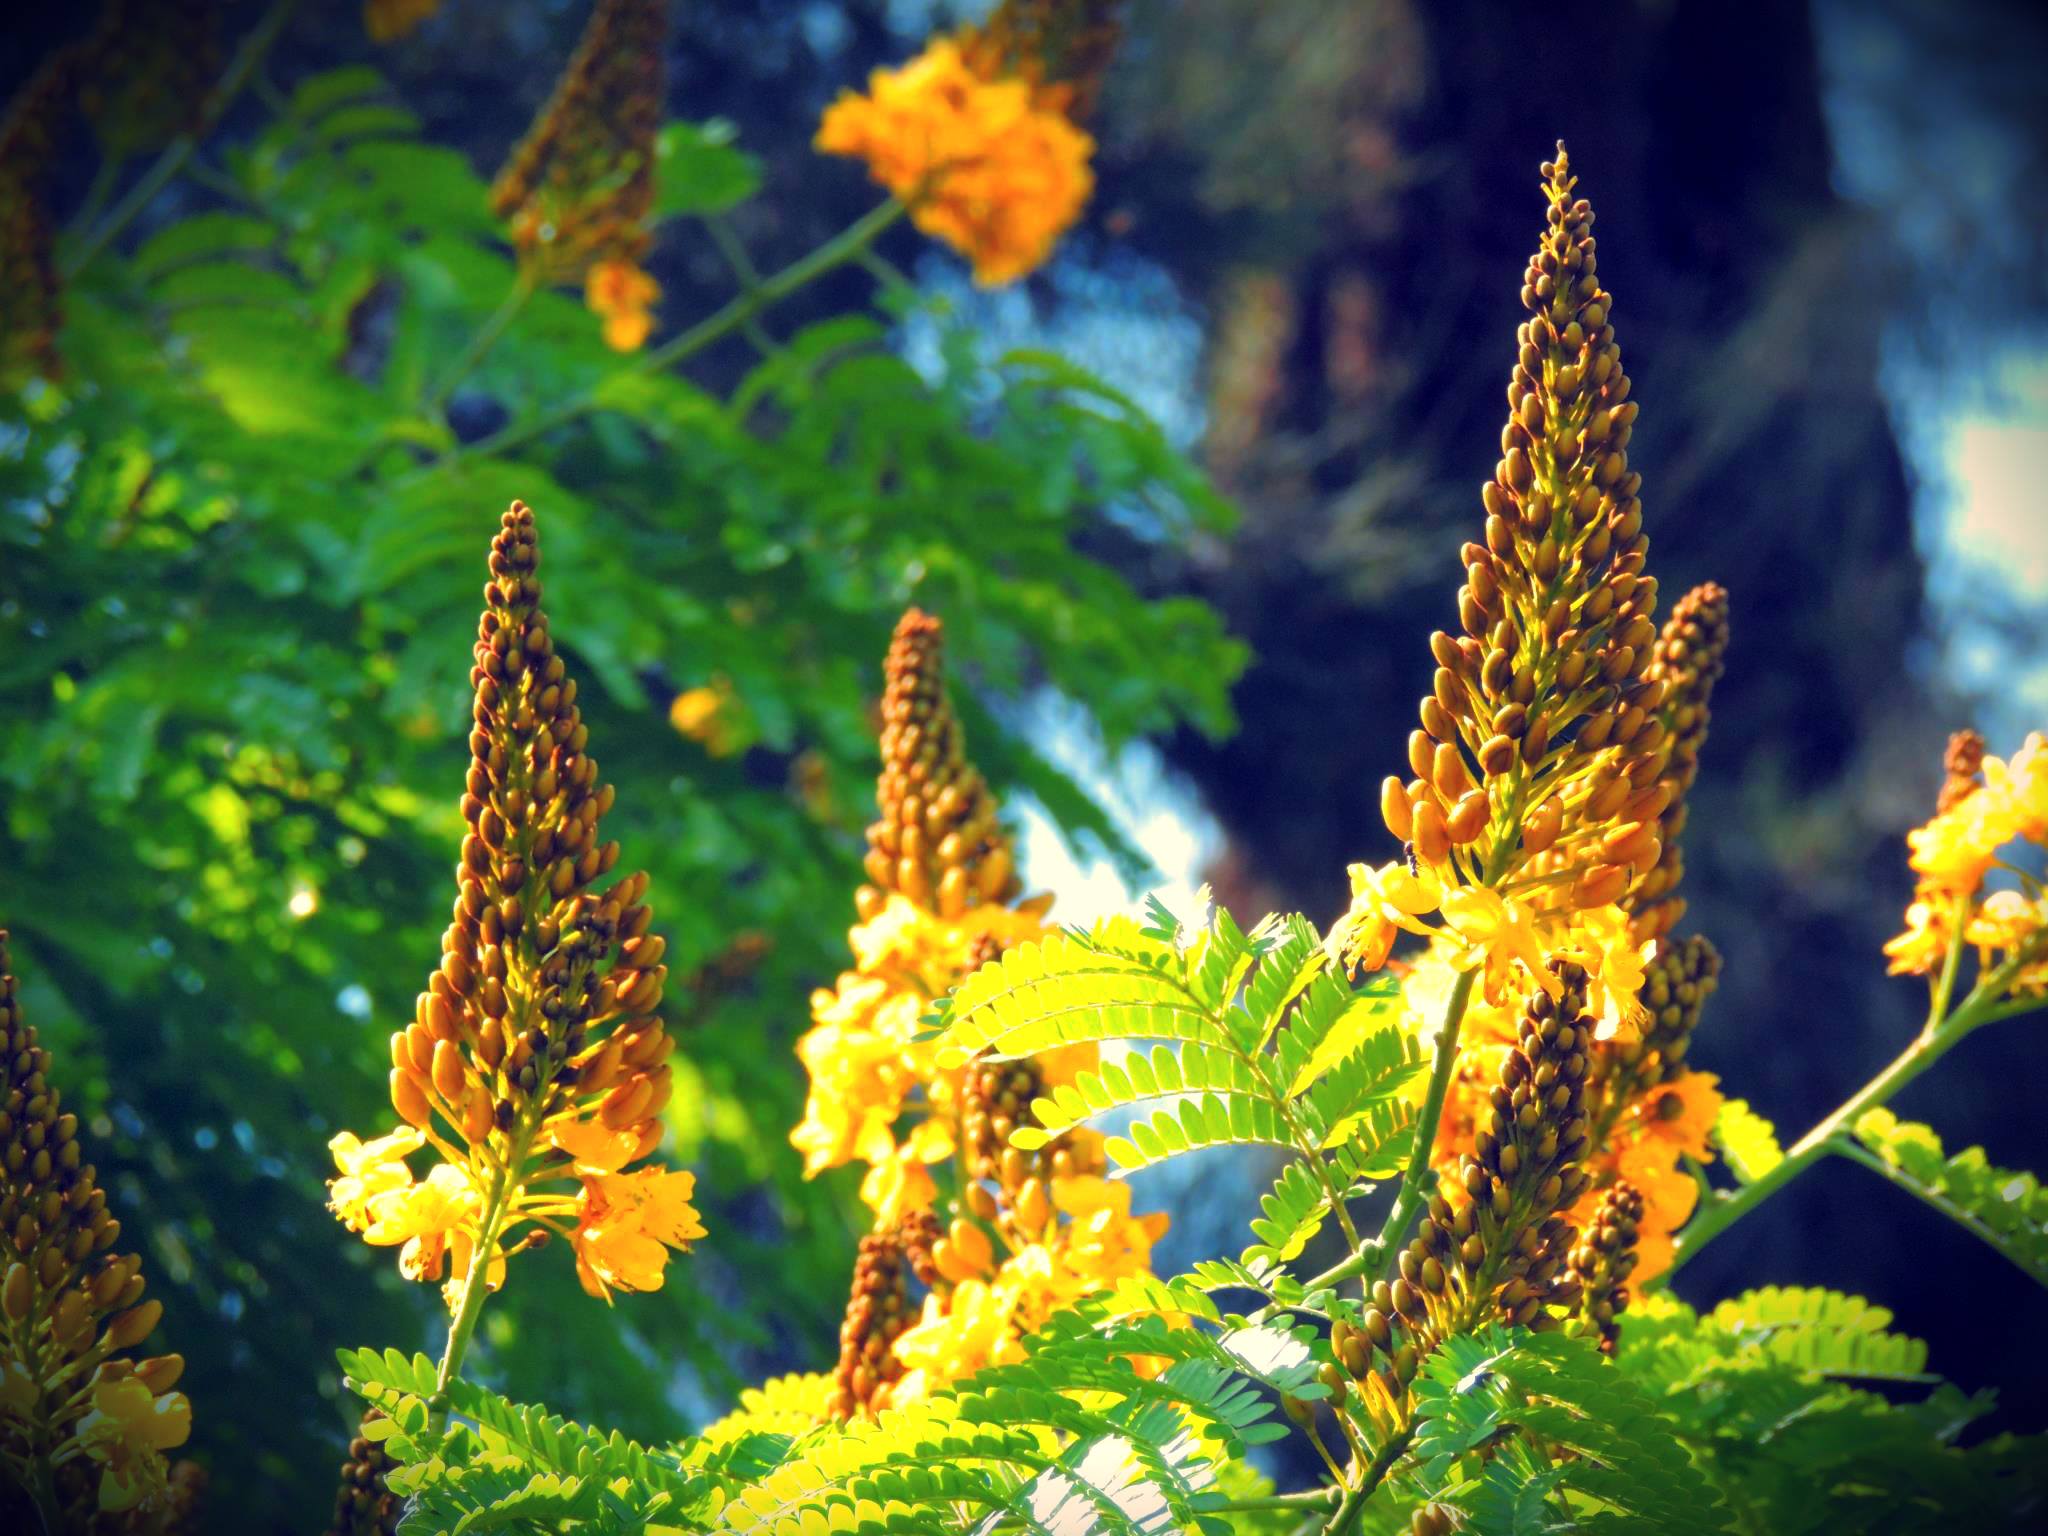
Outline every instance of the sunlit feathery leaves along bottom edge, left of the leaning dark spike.
[[(1169, 1327), (1155, 1313), (1085, 1305), (983, 1370), (881, 1419), (819, 1423), (758, 1397), (705, 1440), (653, 1452), (457, 1382), (434, 1427), (426, 1356), (346, 1350), (348, 1382), (385, 1411), (391, 1485), (408, 1530), (958, 1532), (1157, 1528), (1214, 1532), (1219, 1464), (1284, 1434), (1268, 1393), (1315, 1399), (1309, 1329)], [(1163, 1364), (1139, 1374), (1130, 1356)], [(815, 1378), (811, 1378), (815, 1380)], [(807, 1382), (793, 1382), (807, 1391)], [(1266, 1391), (1260, 1391), (1266, 1389)], [(780, 1432), (762, 1427), (782, 1425)], [(743, 1448), (743, 1454), (741, 1454)], [(827, 1524), (817, 1524), (827, 1522)]]

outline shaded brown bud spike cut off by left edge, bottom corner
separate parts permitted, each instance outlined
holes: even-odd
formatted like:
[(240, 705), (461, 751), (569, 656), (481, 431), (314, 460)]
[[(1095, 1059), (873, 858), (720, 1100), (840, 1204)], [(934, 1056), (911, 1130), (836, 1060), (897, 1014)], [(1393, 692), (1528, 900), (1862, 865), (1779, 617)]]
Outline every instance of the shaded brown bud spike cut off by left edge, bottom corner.
[(90, 1507), (164, 1513), (162, 1452), (193, 1425), (172, 1391), (184, 1360), (117, 1358), (156, 1331), (164, 1305), (143, 1300), (141, 1260), (113, 1253), (121, 1223), (49, 1065), (0, 930), (0, 1468), (27, 1487), (37, 1466), (90, 1466), (76, 1489)]

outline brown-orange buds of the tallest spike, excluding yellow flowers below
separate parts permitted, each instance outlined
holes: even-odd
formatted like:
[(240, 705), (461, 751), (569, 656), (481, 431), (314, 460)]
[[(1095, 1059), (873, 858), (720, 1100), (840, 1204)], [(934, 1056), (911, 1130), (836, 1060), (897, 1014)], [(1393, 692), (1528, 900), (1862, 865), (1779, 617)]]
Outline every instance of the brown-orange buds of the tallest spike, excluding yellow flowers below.
[(1542, 170), (1550, 227), (1524, 274), (1485, 543), (1464, 547), (1464, 633), (1430, 641), (1411, 778), (1386, 782), (1382, 813), (1423, 864), (1468, 883), (1536, 864), (1561, 877), (1554, 905), (1599, 907), (1663, 852), (1671, 733), (1665, 686), (1645, 676), (1657, 580), (1593, 209), (1573, 197), (1563, 145)]

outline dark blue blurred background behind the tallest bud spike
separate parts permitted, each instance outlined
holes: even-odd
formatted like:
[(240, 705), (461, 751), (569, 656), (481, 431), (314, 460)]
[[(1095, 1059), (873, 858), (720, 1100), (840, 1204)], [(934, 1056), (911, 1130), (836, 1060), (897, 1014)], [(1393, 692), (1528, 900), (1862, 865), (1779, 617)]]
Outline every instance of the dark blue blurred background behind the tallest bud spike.
[[(584, 10), (446, 0), (375, 59), (430, 137), (489, 170)], [(737, 213), (764, 264), (868, 205), (854, 168), (817, 172), (823, 104), (977, 10), (678, 6), (670, 113), (727, 117), (764, 158), (768, 195)], [(78, 25), (10, 18), (4, 84)], [(274, 70), (358, 57), (356, 8), (319, 6)], [(993, 338), (1081, 352), (1241, 506), (1235, 537), (1194, 549), (1124, 541), (1114, 520), (1096, 537), (1145, 590), (1217, 604), (1255, 657), (1235, 737), (1090, 768), (1124, 786), (1163, 877), (1214, 881), (1239, 915), (1327, 920), (1343, 862), (1391, 856), (1374, 786), (1430, 676), (1423, 637), (1454, 618), (1540, 227), (1536, 164), (1563, 137), (1642, 403), (1653, 569), (1667, 602), (1700, 580), (1733, 594), (1686, 842), (1686, 926), (1726, 956), (1694, 1063), (1790, 1141), (1888, 1061), (1925, 993), (1888, 981), (1878, 948), (1946, 733), (1976, 723), (2009, 752), (2048, 725), (2044, 78), (2048, 8), (1985, 0), (1130, 6), (1096, 125), (1100, 193), (1053, 266), (983, 297), (907, 229), (885, 250)], [(653, 270), (676, 313), (723, 293), (702, 242), (664, 242)], [(864, 291), (848, 276), (807, 303)], [(713, 352), (700, 377), (743, 362)], [(1038, 870), (1083, 881), (1069, 918), (1102, 899), (1085, 874)], [(1970, 1040), (1896, 1108), (1950, 1147), (2040, 1167), (2038, 1028)], [(1161, 1264), (1206, 1237), (1190, 1214)], [(1864, 1169), (1823, 1163), (1677, 1290), (1708, 1303), (1763, 1282), (1892, 1307), (1937, 1370), (2001, 1393), (2005, 1423), (2048, 1425), (2048, 1296)], [(764, 1364), (823, 1358), (809, 1346)]]

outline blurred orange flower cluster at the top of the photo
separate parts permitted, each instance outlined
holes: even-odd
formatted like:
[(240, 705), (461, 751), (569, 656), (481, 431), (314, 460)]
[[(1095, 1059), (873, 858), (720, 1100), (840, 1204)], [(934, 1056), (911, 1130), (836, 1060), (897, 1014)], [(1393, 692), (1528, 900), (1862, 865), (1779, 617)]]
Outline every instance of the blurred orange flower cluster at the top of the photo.
[(817, 129), (823, 154), (856, 156), (911, 221), (973, 262), (981, 285), (1044, 262), (1094, 190), (1096, 141), (1020, 76), (983, 74), (950, 37), (868, 92), (844, 92)]

